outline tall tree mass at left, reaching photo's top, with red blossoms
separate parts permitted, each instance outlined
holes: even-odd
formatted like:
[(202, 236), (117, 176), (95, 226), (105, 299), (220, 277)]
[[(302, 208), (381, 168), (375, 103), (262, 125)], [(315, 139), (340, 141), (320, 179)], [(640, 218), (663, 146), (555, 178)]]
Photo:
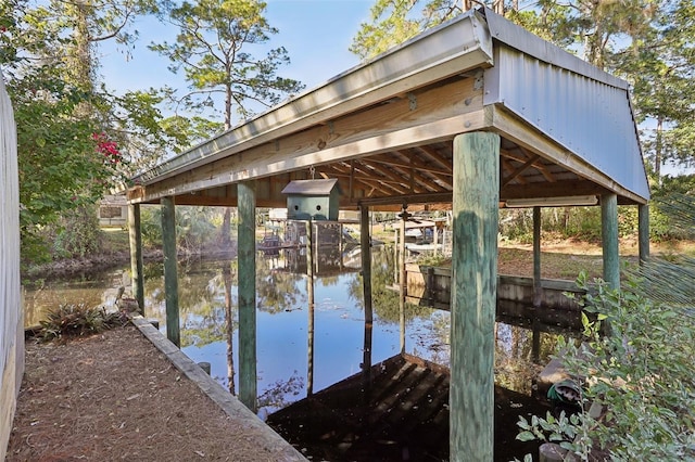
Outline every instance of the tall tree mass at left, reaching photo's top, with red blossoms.
[(127, 154), (132, 152), (129, 140), (137, 136), (149, 144), (162, 143), (155, 95), (112, 97), (99, 88), (98, 63), (91, 53), (98, 41), (130, 43), (126, 26), (148, 4), (144, 0), (0, 3), (0, 57), (17, 121), (25, 262), (48, 258), (50, 245), (59, 241), (49, 236), (64, 232), (63, 217), (84, 216), (71, 211), (93, 207), (125, 178)]

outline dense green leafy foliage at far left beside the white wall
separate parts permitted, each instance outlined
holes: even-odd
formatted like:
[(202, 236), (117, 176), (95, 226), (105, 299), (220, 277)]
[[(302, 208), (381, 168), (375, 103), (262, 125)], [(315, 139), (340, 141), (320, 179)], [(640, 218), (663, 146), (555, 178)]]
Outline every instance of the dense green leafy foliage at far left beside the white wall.
[(119, 168), (99, 152), (92, 137), (99, 126), (74, 115), (88, 97), (43, 72), (8, 85), (17, 124), (24, 261), (47, 259), (46, 227), (97, 203)]

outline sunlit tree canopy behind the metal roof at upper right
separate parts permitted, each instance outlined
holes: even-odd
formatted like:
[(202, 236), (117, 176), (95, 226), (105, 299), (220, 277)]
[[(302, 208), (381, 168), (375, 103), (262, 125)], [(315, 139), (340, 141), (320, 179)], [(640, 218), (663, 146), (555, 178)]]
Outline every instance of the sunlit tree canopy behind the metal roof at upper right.
[[(464, 10), (450, 0), (377, 0), (351, 51), (370, 57)], [(497, 13), (633, 86), (643, 147), (660, 177), (666, 161), (695, 165), (695, 5), (688, 0), (538, 0)], [(504, 8), (502, 8), (504, 7)]]

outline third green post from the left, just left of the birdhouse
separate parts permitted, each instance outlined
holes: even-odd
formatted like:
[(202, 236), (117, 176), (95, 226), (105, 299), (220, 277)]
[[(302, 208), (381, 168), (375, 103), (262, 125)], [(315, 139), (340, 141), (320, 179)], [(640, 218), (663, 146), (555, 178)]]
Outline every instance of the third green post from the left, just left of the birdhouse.
[(239, 207), (239, 399), (256, 412), (256, 191), (237, 184)]

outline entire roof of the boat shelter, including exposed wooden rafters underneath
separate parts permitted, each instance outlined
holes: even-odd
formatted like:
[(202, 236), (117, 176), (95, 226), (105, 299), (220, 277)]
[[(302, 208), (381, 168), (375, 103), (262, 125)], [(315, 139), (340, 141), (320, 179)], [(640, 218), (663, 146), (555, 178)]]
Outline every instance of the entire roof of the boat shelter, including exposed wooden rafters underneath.
[(628, 85), (511, 24), (469, 11), (134, 178), (131, 202), (258, 206), (290, 181), (337, 179), (342, 207), (445, 204), (452, 140), (502, 137), (501, 201), (649, 198)]

